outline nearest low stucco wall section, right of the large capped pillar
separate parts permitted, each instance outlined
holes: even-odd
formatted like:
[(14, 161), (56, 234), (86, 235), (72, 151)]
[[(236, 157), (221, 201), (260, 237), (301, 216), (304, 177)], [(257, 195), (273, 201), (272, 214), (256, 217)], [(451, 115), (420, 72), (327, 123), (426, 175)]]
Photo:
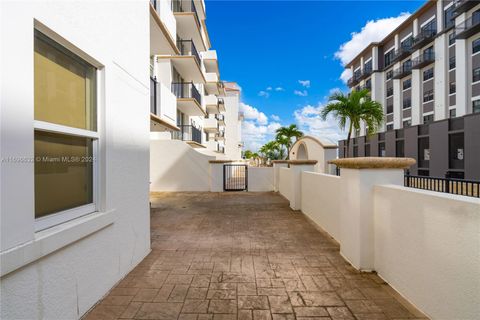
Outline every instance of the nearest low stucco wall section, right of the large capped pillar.
[(375, 187), (375, 269), (432, 319), (479, 319), (480, 200)]

